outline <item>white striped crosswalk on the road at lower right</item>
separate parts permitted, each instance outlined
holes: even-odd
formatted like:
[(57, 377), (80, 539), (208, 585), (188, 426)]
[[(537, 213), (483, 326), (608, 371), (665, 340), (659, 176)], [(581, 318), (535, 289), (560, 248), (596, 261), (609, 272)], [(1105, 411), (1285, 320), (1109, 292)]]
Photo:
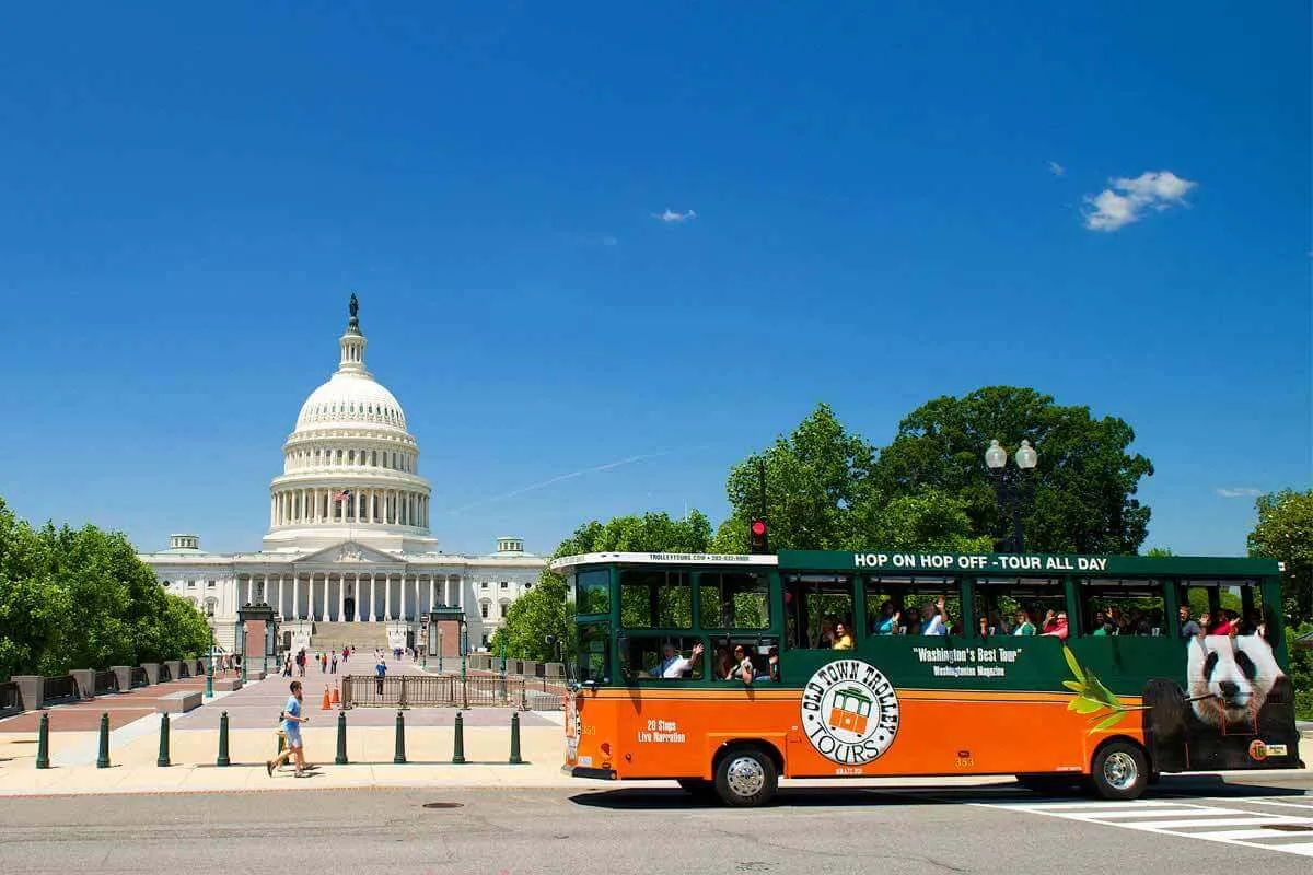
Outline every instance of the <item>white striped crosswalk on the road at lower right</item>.
[(983, 808), (1313, 857), (1313, 796), (976, 804)]

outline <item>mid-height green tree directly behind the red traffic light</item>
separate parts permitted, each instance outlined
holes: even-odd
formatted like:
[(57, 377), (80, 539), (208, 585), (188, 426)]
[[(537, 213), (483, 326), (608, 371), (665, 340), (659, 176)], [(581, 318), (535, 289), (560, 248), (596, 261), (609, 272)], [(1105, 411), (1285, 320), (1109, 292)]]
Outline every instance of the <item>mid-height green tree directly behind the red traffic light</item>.
[(765, 513), (772, 550), (843, 550), (865, 542), (871, 468), (876, 450), (847, 432), (827, 404), (818, 404), (788, 437), (780, 436), (730, 470), (730, 516), (716, 533), (716, 552), (747, 552), (748, 523), (762, 510), (760, 471), (765, 468)]

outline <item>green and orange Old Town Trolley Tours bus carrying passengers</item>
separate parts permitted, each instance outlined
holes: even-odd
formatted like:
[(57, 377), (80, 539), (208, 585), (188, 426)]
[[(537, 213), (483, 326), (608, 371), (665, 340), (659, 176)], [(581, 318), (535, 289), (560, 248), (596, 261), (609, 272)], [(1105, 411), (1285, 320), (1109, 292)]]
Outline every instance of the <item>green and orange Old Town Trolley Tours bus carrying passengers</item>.
[(557, 559), (566, 770), (733, 805), (784, 778), (1016, 775), (1133, 799), (1300, 766), (1266, 559), (783, 551)]

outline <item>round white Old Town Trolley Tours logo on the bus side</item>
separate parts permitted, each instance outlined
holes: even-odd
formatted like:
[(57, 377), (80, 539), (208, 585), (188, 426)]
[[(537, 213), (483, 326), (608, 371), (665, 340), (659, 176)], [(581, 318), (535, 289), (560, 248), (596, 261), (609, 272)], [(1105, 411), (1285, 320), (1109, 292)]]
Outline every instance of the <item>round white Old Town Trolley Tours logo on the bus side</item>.
[(822, 665), (802, 689), (802, 731), (827, 760), (865, 765), (898, 735), (894, 685), (861, 660)]

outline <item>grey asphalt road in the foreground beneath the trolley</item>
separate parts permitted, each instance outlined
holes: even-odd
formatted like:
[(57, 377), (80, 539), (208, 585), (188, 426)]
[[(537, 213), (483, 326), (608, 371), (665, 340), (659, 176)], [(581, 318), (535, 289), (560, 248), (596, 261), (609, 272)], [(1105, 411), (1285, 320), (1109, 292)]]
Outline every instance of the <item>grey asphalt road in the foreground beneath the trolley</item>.
[(697, 804), (675, 788), (624, 787), (0, 800), (0, 872), (25, 875), (1108, 875), (1258, 867), (1263, 875), (1308, 875), (1310, 861), (1313, 781), (1165, 779), (1129, 807), (1041, 799), (1015, 784), (793, 790), (754, 811)]

